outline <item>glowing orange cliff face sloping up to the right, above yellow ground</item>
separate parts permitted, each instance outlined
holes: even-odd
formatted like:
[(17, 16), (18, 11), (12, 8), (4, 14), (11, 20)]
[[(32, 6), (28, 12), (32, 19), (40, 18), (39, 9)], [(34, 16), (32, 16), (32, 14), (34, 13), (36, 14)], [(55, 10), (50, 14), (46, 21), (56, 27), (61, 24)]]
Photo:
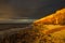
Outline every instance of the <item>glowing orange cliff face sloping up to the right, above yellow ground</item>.
[(34, 24), (43, 24), (43, 25), (62, 25), (65, 24), (65, 9), (56, 11), (54, 14), (50, 14), (43, 18), (40, 18)]

